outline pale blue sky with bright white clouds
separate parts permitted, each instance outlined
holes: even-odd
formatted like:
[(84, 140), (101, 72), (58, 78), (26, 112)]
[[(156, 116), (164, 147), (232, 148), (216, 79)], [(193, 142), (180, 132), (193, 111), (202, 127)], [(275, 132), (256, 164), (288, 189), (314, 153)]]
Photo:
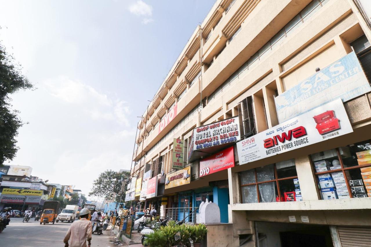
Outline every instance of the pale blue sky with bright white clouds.
[(214, 0), (0, 0), (0, 40), (35, 90), (11, 98), (19, 151), (50, 183), (88, 195), (130, 169), (137, 123)]

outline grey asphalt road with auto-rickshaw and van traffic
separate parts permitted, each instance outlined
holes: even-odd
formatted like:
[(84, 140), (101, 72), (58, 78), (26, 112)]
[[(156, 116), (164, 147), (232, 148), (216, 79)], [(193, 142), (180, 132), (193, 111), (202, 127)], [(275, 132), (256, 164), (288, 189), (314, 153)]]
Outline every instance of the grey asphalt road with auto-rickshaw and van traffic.
[[(63, 238), (65, 237), (69, 226), (72, 223), (59, 222), (54, 225), (49, 223), (40, 225), (40, 221), (22, 222), (23, 218), (11, 218), (10, 224), (0, 233), (0, 246), (30, 247), (30, 246), (53, 246), (63, 247)], [(110, 244), (114, 238), (109, 238), (109, 231), (103, 231), (103, 235), (92, 235), (92, 247), (112, 247)]]

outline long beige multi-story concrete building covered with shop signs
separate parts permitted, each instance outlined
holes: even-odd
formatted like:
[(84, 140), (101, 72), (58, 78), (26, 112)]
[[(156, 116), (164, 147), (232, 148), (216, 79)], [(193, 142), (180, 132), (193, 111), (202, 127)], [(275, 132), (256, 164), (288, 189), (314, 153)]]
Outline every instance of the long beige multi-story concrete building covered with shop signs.
[(126, 201), (195, 222), (215, 202), (208, 246), (371, 245), (361, 4), (217, 0), (138, 123)]

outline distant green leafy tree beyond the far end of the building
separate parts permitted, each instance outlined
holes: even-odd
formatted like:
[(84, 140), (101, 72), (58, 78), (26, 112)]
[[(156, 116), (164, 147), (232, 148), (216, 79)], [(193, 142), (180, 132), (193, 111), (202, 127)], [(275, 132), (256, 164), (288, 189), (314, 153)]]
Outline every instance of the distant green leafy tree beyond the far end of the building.
[(89, 193), (89, 196), (104, 197), (105, 199), (111, 199), (116, 194), (116, 201), (119, 200), (118, 193), (121, 191), (122, 182), (128, 181), (130, 178), (130, 172), (116, 172), (112, 170), (106, 170), (99, 174), (98, 179), (94, 180), (93, 188)]

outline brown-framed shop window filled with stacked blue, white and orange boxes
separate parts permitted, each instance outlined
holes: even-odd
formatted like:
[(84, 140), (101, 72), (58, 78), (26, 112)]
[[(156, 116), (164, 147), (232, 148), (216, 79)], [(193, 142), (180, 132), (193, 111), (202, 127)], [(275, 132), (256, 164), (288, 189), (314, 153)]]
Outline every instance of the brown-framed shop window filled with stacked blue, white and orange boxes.
[(311, 155), (322, 199), (371, 197), (370, 141)]

